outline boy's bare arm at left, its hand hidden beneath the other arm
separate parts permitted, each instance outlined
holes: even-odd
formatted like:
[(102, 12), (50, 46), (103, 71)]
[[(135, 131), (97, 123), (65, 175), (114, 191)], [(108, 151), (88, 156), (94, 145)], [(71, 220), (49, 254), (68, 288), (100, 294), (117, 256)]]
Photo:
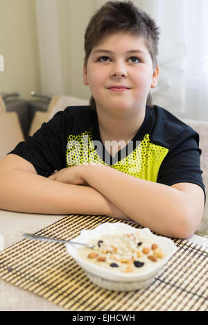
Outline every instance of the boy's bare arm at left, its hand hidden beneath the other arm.
[(8, 155), (0, 161), (0, 209), (128, 219), (96, 189), (37, 175), (33, 165), (17, 155)]

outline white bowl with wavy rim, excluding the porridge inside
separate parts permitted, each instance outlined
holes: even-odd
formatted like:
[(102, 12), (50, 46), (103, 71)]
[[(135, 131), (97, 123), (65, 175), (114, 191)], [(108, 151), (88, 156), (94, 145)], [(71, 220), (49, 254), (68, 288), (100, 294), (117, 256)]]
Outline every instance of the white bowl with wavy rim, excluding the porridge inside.
[(173, 243), (173, 240), (162, 236), (156, 236), (148, 228), (137, 229), (121, 222), (106, 222), (92, 230), (83, 229), (80, 236), (73, 239), (74, 242), (88, 243), (89, 240), (100, 238), (102, 235), (106, 234), (135, 234), (138, 232), (141, 237), (150, 240), (152, 243), (156, 243), (164, 253), (164, 258), (162, 258), (160, 263), (151, 267), (150, 270), (144, 270), (138, 274), (113, 272), (87, 262), (78, 256), (78, 249), (81, 247), (80, 245), (71, 243), (67, 244), (67, 252), (76, 260), (80, 267), (83, 267), (83, 270), (89, 279), (96, 285), (109, 290), (137, 290), (148, 286), (150, 282), (153, 281), (154, 276), (162, 269), (162, 267), (164, 267), (169, 258), (171, 258), (171, 256), (176, 252), (177, 247)]

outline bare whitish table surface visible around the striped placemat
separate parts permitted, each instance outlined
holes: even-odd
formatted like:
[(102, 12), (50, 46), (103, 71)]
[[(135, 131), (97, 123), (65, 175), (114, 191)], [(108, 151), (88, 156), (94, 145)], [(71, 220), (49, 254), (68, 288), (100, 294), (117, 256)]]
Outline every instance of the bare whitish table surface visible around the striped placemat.
[[(34, 233), (64, 216), (17, 213), (0, 210), (0, 249), (17, 243), (24, 233)], [(189, 241), (208, 247), (208, 239), (193, 235)], [(42, 297), (0, 280), (0, 311), (64, 311)]]

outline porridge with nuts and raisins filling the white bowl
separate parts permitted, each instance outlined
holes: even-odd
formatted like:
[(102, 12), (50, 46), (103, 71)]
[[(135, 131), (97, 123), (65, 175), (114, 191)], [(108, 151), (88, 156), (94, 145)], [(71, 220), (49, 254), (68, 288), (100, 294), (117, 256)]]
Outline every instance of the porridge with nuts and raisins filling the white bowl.
[(151, 243), (139, 234), (103, 235), (90, 240), (94, 248), (78, 249), (78, 256), (115, 272), (143, 272), (164, 258), (164, 253), (156, 243)]

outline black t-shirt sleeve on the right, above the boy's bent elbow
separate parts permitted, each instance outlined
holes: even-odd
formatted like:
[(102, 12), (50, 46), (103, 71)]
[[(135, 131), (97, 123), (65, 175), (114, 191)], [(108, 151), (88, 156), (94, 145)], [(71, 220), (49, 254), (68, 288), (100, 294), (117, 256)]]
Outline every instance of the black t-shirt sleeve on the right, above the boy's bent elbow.
[(182, 182), (198, 184), (205, 193), (203, 172), (200, 169), (200, 155), (199, 134), (188, 126), (180, 132), (162, 162), (157, 182), (168, 186)]

